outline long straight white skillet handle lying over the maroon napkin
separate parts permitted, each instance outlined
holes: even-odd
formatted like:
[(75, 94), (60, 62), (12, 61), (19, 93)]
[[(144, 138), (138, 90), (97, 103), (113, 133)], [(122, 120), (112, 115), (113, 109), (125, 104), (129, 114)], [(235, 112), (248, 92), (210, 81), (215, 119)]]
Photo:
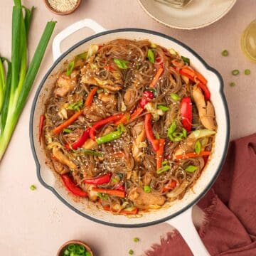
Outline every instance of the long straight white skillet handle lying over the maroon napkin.
[(166, 221), (166, 223), (172, 225), (178, 230), (182, 235), (183, 239), (186, 241), (191, 252), (195, 256), (209, 256), (209, 252), (203, 245), (203, 242), (196, 231), (195, 226), (192, 221), (192, 207), (188, 208), (185, 212)]

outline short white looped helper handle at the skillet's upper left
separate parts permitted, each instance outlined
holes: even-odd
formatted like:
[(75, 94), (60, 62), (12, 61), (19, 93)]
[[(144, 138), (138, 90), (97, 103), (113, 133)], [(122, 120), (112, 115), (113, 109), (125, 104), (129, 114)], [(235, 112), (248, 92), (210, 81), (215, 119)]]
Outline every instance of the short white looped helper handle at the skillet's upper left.
[(93, 21), (91, 18), (85, 18), (81, 21), (75, 22), (68, 28), (63, 29), (57, 36), (53, 39), (53, 60), (57, 60), (61, 55), (60, 43), (70, 36), (71, 34), (79, 31), (81, 28), (90, 28), (95, 33), (100, 33), (106, 31), (105, 28), (100, 26), (96, 21)]

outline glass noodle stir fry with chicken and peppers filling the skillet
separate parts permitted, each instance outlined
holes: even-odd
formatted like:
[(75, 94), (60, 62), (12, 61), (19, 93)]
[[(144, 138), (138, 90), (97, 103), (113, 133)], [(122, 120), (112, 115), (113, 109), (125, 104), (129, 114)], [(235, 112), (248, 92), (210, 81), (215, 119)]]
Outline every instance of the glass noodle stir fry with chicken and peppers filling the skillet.
[(71, 193), (137, 214), (184, 196), (217, 126), (207, 81), (188, 58), (117, 39), (90, 46), (58, 75), (40, 129)]

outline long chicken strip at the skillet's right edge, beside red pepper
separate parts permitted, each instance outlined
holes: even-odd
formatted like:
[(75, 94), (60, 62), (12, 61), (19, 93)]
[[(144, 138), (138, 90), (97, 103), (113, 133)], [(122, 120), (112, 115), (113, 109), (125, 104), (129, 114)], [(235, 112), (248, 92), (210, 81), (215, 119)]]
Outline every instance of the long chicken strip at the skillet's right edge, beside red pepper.
[(215, 130), (216, 125), (213, 105), (210, 101), (206, 102), (202, 90), (197, 85), (193, 87), (192, 94), (203, 126), (207, 129)]

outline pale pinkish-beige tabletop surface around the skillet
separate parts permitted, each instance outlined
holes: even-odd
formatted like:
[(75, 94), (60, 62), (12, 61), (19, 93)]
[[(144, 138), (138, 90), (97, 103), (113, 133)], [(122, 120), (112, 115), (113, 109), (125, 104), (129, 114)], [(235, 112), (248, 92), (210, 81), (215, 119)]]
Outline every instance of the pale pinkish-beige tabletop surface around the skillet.
[[(11, 50), (11, 3), (11, 0), (1, 0), (0, 9), (0, 53), (7, 56)], [(256, 65), (250, 63), (240, 50), (242, 30), (256, 18), (255, 0), (238, 0), (220, 21), (196, 31), (178, 31), (156, 23), (146, 16), (136, 0), (82, 0), (80, 9), (70, 16), (51, 14), (41, 0), (23, 0), (23, 4), (37, 7), (30, 34), (31, 55), (43, 26), (50, 19), (58, 21), (54, 35), (75, 21), (93, 18), (105, 28), (148, 28), (183, 41), (223, 75), (232, 138), (256, 132)], [(90, 31), (76, 33), (63, 43), (63, 48), (67, 49), (89, 34)], [(228, 49), (228, 58), (220, 55), (223, 49)], [(9, 256), (55, 255), (59, 245), (66, 240), (81, 239), (92, 245), (98, 256), (127, 255), (130, 248), (134, 249), (135, 255), (141, 255), (171, 230), (169, 225), (128, 230), (92, 223), (60, 203), (36, 178), (28, 119), (36, 88), (52, 63), (49, 46), (14, 137), (0, 164), (0, 252)], [(233, 77), (230, 70), (235, 68), (240, 71), (250, 68), (252, 74)], [(235, 87), (228, 85), (232, 81), (236, 82)], [(32, 183), (38, 187), (36, 191), (29, 189)], [(135, 236), (141, 239), (139, 243), (132, 241)]]

